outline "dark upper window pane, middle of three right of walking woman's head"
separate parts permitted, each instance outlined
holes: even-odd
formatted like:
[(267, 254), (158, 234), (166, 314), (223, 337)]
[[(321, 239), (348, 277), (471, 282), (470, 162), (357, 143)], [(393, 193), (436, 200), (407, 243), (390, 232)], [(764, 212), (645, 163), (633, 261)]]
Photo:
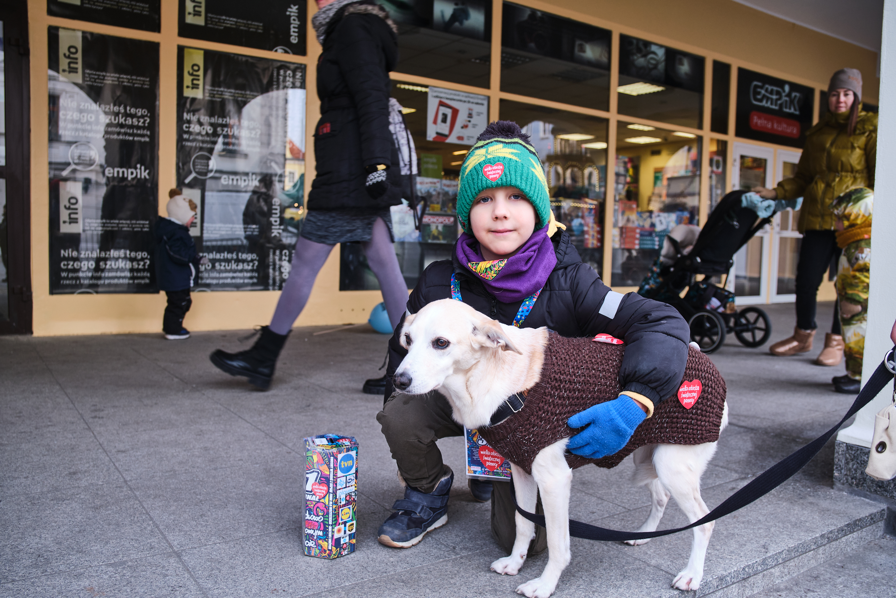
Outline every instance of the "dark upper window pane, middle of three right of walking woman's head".
[(501, 91), (607, 110), (612, 32), (504, 3)]

